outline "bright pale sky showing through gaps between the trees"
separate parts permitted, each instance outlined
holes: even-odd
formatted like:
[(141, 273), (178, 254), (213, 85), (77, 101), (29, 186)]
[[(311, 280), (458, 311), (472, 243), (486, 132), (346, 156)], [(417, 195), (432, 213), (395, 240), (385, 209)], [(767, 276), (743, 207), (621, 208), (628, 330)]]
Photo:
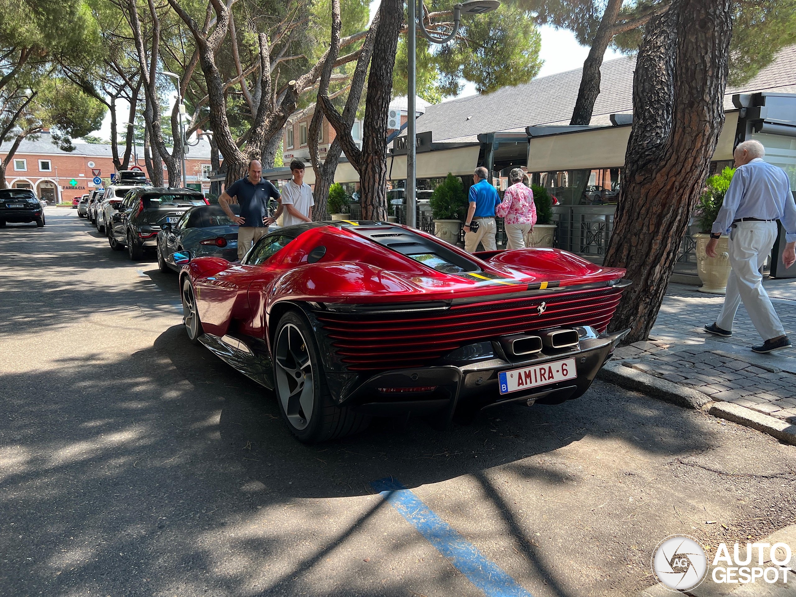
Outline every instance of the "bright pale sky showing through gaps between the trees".
[[(377, 6), (378, 2), (374, 1), (371, 3), (372, 15), (375, 13)], [(542, 45), (539, 56), (542, 60), (544, 60), (544, 64), (542, 65), (538, 76), (553, 75), (556, 72), (569, 71), (583, 66), (583, 60), (586, 60), (589, 49), (579, 45), (575, 39), (575, 35), (564, 29), (554, 29), (547, 25), (541, 26), (539, 28), (539, 33), (542, 37)], [(622, 56), (622, 54), (619, 54), (609, 48), (605, 53), (605, 60), (611, 60), (612, 58), (618, 58), (620, 56)], [(458, 97), (474, 96), (475, 93), (474, 85), (466, 83)], [(173, 94), (171, 102), (173, 103), (175, 99), (176, 94)], [(124, 123), (127, 123), (127, 110), (127, 104), (119, 102), (116, 110), (119, 131), (123, 131)], [(95, 135), (103, 139), (110, 139), (110, 114), (105, 115), (103, 126), (100, 128), (99, 132), (95, 133)]]

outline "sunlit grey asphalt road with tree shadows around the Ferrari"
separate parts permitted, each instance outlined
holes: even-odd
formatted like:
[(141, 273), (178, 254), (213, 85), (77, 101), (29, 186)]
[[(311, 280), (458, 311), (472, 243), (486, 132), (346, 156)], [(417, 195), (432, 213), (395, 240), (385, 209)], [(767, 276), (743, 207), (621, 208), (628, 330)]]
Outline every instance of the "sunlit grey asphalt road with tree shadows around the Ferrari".
[(483, 595), (382, 478), (512, 595), (637, 595), (669, 534), (709, 552), (796, 519), (796, 447), (600, 382), (303, 446), (270, 392), (189, 344), (176, 275), (76, 210), (47, 222), (0, 228), (2, 595)]

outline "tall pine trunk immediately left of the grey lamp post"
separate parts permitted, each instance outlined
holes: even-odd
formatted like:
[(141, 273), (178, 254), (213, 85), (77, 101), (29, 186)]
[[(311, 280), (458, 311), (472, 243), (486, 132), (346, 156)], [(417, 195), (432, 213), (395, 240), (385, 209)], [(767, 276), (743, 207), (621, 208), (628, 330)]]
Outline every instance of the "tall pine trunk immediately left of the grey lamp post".
[(392, 96), (392, 68), (404, 21), (404, 0), (382, 0), (379, 11), (358, 169), (363, 220), (387, 219), (387, 117)]

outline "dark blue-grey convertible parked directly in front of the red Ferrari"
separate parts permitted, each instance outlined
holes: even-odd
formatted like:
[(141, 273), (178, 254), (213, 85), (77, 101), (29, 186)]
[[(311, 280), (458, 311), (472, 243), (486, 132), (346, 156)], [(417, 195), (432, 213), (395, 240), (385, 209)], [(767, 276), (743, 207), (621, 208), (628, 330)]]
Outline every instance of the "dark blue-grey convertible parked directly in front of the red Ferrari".
[[(230, 205), (240, 213), (240, 205)], [(185, 212), (176, 224), (162, 224), (158, 232), (158, 267), (161, 271), (179, 271), (169, 259), (177, 251), (191, 256), (238, 259), (238, 226), (233, 224), (220, 205), (197, 205)]]

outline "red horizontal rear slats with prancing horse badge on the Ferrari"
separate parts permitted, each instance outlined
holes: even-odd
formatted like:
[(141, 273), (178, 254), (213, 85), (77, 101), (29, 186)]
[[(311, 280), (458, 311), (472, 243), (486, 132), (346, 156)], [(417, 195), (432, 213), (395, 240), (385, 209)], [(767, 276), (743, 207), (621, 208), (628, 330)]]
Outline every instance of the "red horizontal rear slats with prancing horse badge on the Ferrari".
[[(318, 319), (349, 370), (405, 369), (429, 365), (459, 346), (505, 334), (564, 326), (593, 326), (603, 332), (621, 295), (621, 289), (615, 288), (560, 291), (444, 311), (383, 315), (323, 311)], [(545, 309), (540, 314), (542, 302)]]

